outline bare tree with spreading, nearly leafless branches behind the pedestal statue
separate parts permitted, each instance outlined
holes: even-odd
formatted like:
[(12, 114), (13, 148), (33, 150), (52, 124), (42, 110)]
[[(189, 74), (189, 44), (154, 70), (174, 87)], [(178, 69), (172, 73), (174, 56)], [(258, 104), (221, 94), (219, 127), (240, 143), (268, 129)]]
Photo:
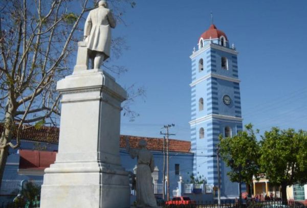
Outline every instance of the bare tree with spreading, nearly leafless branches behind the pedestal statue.
[[(78, 2), (78, 3), (77, 3)], [(9, 148), (20, 146), (20, 130), (28, 125), (56, 125), (60, 96), (56, 82), (71, 74), (76, 42), (83, 35), (84, 14), (93, 9), (91, 0), (2, 0), (0, 3), (0, 113), (4, 131), (0, 139), (0, 187)], [(111, 9), (122, 21), (124, 4), (130, 0), (110, 0)], [(80, 27), (79, 27), (80, 26)], [(114, 38), (112, 49), (121, 54), (122, 38)], [(107, 65), (113, 73), (123, 66)], [(142, 89), (133, 91), (142, 95)], [(133, 111), (128, 113), (135, 115)], [(16, 143), (12, 142), (13, 133)], [(14, 144), (13, 144), (14, 143)]]

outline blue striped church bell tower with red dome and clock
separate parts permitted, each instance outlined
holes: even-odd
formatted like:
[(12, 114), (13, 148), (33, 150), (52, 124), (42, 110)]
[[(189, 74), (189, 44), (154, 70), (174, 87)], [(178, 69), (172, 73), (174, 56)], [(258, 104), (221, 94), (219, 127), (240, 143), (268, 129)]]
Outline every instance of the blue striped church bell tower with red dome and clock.
[[(242, 131), (238, 52), (230, 47), (226, 34), (211, 25), (198, 40), (190, 56), (191, 149), (193, 173), (205, 176), (207, 185), (218, 185), (216, 147), (218, 136), (232, 136)], [(238, 197), (238, 184), (227, 176), (229, 170), (220, 161), (221, 195)]]

